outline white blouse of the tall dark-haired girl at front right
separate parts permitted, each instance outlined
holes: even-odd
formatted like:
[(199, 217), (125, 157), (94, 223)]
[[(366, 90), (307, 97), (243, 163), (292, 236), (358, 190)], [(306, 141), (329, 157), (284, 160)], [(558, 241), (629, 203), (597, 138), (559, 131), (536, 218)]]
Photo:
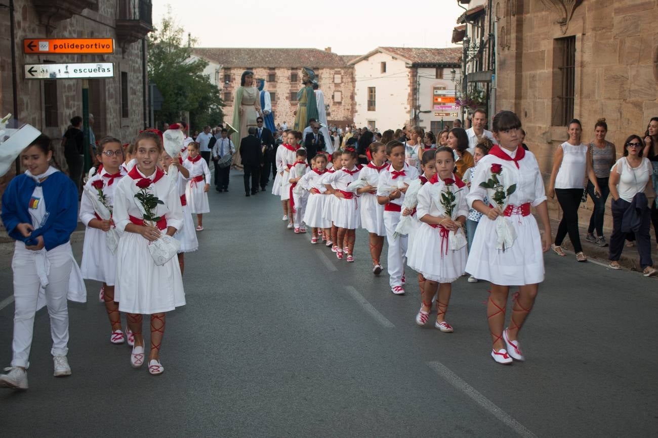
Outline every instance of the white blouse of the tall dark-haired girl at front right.
[[(514, 158), (521, 146), (513, 152), (509, 152), (505, 148), (501, 148), (503, 152)], [(516, 184), (517, 189), (509, 196), (508, 203), (513, 206), (522, 206), (526, 202), (530, 202), (533, 207), (542, 204), (546, 200), (546, 192), (544, 189), (544, 179), (540, 171), (539, 164), (532, 152), (526, 150), (526, 154), (522, 160), (519, 160), (519, 168), (512, 161), (502, 160), (495, 155), (489, 154), (482, 158), (475, 167), (475, 175), (470, 181), (470, 192), (468, 192), (467, 202), (468, 206), (472, 208), (473, 202), (480, 200), (485, 202), (487, 198), (487, 189), (480, 187), (480, 183), (486, 183), (491, 177), (492, 164), (500, 164), (503, 166), (501, 179), (505, 188)]]

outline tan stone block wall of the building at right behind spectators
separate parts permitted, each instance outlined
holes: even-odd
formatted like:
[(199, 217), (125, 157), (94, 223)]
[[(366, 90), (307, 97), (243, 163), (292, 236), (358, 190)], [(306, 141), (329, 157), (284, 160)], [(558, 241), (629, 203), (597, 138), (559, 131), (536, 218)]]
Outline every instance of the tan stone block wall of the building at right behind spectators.
[[(607, 140), (619, 156), (628, 135), (644, 137), (649, 118), (658, 116), (656, 0), (582, 1), (567, 26), (542, 0), (496, 10), (503, 12), (501, 22), (511, 22), (509, 49), (501, 47), (501, 35), (497, 47), (497, 110), (519, 114), (545, 181), (555, 148), (567, 138), (566, 127), (551, 123), (559, 104), (557, 38), (576, 37), (574, 117), (582, 122), (582, 141), (594, 139), (599, 118), (606, 118)], [(512, 11), (509, 19), (506, 11)], [(591, 209), (590, 202), (583, 208)]]

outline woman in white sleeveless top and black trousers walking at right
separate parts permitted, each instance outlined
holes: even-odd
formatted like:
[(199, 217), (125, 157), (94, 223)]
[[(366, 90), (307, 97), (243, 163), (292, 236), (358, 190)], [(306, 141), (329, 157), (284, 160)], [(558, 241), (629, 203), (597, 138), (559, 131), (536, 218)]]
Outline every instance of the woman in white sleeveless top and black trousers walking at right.
[(587, 153), (587, 146), (580, 142), (582, 125), (578, 119), (569, 122), (569, 140), (560, 144), (553, 158), (553, 171), (551, 171), (551, 182), (548, 195), (551, 199), (557, 195), (557, 202), (562, 208), (562, 220), (557, 227), (553, 251), (557, 255), (564, 256), (565, 252), (561, 245), (567, 232), (574, 246), (577, 261), (587, 261), (582, 252), (580, 235), (578, 234), (578, 207), (582, 199), (585, 178), (589, 177), (594, 185), (594, 196), (601, 196), (599, 183), (592, 169), (592, 156)]

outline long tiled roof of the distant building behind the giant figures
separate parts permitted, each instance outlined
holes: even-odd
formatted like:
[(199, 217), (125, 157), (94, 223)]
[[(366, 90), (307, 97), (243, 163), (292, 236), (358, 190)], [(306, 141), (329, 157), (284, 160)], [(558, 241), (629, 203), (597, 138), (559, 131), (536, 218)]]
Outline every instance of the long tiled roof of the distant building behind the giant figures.
[(345, 68), (345, 56), (319, 49), (260, 49), (257, 47), (194, 47), (194, 55), (224, 67)]

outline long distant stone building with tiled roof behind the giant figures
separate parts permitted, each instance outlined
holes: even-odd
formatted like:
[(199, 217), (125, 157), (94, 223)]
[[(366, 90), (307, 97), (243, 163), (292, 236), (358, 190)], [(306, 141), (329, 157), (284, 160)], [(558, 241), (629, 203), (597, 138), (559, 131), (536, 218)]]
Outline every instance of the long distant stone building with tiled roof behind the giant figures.
[(353, 56), (340, 56), (328, 47), (319, 49), (192, 49), (195, 56), (209, 62), (204, 73), (220, 89), (224, 120), (233, 118), (235, 91), (240, 87), (243, 71), (252, 70), (255, 77), (266, 81), (265, 89), (272, 97), (274, 123), (295, 121), (297, 91), (301, 89), (303, 67), (311, 67), (318, 75), (320, 89), (328, 105), (329, 124), (347, 125), (354, 120), (354, 69), (347, 65)]

